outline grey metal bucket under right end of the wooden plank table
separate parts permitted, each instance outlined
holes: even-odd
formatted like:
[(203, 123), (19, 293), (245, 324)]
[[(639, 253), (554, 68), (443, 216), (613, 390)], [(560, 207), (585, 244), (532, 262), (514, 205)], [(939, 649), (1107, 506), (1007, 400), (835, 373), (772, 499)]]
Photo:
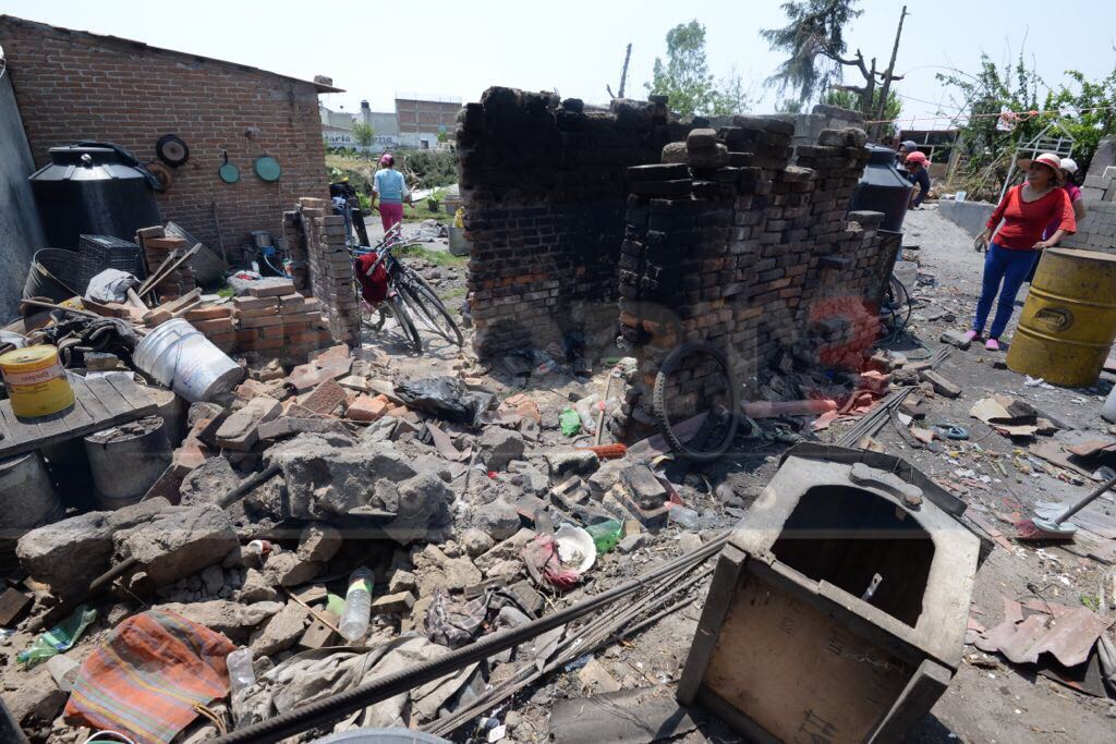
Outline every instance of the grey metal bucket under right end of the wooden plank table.
[(102, 509), (134, 504), (171, 464), (162, 416), (106, 428), (85, 437), (89, 470)]

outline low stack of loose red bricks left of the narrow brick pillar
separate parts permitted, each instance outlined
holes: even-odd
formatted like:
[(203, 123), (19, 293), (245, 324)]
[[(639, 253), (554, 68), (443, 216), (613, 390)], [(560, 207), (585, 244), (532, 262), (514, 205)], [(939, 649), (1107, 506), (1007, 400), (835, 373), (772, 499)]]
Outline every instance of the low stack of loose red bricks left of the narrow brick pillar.
[(240, 351), (285, 364), (300, 364), (311, 351), (331, 346), (321, 302), (295, 291), (286, 279), (268, 279), (232, 299)]

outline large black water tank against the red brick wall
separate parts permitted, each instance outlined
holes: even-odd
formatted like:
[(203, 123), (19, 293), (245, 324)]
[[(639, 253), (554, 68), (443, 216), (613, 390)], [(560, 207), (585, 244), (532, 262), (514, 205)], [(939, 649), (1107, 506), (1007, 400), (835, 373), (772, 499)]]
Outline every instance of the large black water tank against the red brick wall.
[(77, 250), (81, 234), (133, 240), (163, 223), (147, 178), (112, 147), (51, 147), (30, 181), (51, 248)]

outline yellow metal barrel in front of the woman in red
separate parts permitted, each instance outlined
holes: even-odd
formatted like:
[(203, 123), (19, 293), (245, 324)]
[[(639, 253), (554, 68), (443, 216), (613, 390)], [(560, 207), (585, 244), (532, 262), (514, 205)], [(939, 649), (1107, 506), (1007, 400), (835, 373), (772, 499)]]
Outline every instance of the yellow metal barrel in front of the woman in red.
[(1116, 255), (1051, 248), (1008, 349), (1008, 367), (1054, 385), (1086, 387), (1100, 377), (1116, 338)]

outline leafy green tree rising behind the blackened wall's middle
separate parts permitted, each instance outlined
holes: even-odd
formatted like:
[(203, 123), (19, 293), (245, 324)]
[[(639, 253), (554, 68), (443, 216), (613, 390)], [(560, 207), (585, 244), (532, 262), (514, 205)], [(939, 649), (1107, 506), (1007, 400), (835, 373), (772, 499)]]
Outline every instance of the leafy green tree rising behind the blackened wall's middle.
[(667, 31), (666, 61), (655, 58), (652, 81), (644, 87), (653, 96), (667, 96), (670, 107), (682, 116), (739, 114), (749, 104), (735, 70), (718, 86), (705, 59), (705, 27), (696, 20)]

